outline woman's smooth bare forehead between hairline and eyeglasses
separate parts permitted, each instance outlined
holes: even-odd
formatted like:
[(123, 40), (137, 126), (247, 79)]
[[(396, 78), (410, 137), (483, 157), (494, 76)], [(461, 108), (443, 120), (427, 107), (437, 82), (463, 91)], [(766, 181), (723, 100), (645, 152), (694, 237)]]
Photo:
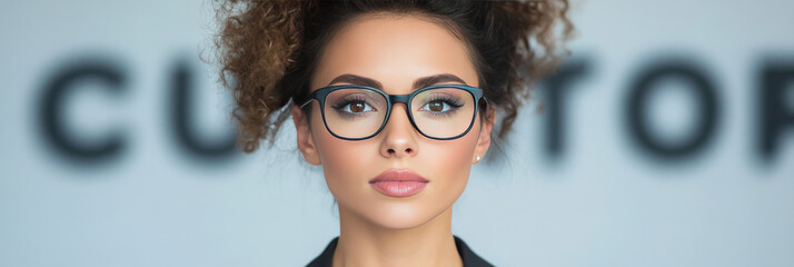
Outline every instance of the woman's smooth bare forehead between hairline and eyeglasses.
[(464, 42), (439, 22), (415, 14), (367, 14), (348, 22), (324, 48), (312, 76), (316, 90), (338, 76), (379, 81), (406, 93), (416, 79), (450, 73), (469, 86), (477, 73)]

